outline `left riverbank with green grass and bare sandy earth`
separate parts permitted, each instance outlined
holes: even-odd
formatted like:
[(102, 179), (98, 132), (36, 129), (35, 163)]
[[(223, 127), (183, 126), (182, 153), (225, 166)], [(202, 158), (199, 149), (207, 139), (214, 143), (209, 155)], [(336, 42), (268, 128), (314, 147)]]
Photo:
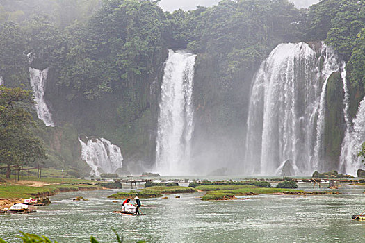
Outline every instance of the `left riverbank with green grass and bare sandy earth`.
[(22, 180), (17, 183), (6, 181), (0, 185), (0, 209), (8, 208), (14, 203), (22, 203), (23, 199), (29, 197), (53, 196), (61, 192), (75, 192), (85, 190), (103, 189), (100, 185), (85, 184), (86, 180), (72, 179), (72, 183), (53, 183), (54, 179), (42, 179), (39, 181)]

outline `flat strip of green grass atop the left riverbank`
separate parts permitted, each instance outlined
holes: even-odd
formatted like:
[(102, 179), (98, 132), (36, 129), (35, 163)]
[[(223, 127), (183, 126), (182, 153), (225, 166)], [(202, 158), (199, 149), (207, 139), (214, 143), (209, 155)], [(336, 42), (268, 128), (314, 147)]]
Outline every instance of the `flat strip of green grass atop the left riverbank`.
[(101, 187), (97, 185), (72, 184), (45, 185), (43, 187), (31, 187), (27, 185), (0, 185), (0, 199), (25, 199), (30, 196), (52, 195), (58, 192), (97, 189), (101, 189)]

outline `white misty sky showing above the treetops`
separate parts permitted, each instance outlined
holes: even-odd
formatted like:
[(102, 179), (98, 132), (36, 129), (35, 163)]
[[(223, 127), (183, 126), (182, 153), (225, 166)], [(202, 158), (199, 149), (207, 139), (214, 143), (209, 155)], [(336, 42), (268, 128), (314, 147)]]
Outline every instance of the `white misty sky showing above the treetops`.
[[(174, 11), (182, 8), (184, 10), (193, 10), (196, 6), (212, 6), (217, 4), (220, 0), (161, 0), (159, 6), (166, 11)], [(297, 8), (307, 8), (318, 0), (289, 0), (293, 1)]]

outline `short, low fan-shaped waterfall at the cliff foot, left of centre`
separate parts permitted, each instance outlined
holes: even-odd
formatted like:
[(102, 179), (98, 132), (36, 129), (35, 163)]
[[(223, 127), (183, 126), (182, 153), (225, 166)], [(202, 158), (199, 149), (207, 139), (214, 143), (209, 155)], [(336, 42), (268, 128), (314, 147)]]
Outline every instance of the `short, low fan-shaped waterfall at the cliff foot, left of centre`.
[(88, 142), (83, 142), (79, 136), (81, 144), (81, 160), (85, 160), (91, 167), (90, 175), (100, 176), (100, 172), (115, 173), (122, 167), (122, 152), (116, 145), (104, 138), (88, 138)]

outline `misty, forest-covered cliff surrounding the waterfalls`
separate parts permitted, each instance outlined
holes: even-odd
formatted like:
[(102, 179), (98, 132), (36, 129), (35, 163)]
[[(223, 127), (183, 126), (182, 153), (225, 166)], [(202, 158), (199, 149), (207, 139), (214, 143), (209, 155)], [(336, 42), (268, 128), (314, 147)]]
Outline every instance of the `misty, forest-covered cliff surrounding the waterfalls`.
[[(122, 149), (124, 169), (143, 171), (155, 162), (168, 49), (188, 49), (197, 54), (192, 160), (210, 173), (225, 161), (241, 164), (252, 78), (279, 43), (324, 40), (332, 46), (347, 64), (355, 117), (364, 97), (364, 22), (364, 3), (355, 0), (323, 0), (309, 10), (285, 0), (223, 0), (173, 13), (163, 12), (158, 1), (4, 1), (0, 76), (6, 87), (31, 89), (29, 67), (49, 67), (45, 99), (57, 127), (39, 122), (37, 128), (49, 166), (84, 170), (82, 134), (111, 140)], [(341, 82), (333, 74), (326, 96), (331, 168), (339, 163), (344, 133)]]

